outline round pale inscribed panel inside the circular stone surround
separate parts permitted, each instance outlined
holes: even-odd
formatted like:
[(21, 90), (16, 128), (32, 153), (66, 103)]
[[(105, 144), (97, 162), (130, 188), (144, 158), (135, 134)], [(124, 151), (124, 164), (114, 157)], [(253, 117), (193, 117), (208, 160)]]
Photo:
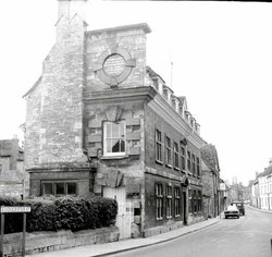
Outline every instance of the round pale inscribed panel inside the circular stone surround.
[(113, 53), (103, 62), (103, 71), (108, 76), (119, 76), (125, 69), (125, 60), (122, 56)]

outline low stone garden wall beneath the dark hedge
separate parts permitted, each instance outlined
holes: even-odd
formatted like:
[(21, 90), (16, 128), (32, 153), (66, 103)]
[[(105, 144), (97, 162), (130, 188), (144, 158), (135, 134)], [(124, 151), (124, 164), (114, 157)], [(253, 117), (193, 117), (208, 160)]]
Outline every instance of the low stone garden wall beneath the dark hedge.
[[(116, 227), (79, 232), (33, 232), (26, 233), (25, 253), (27, 255), (72, 248), (83, 245), (102, 244), (119, 241)], [(7, 234), (3, 241), (4, 256), (21, 256), (22, 233)]]

